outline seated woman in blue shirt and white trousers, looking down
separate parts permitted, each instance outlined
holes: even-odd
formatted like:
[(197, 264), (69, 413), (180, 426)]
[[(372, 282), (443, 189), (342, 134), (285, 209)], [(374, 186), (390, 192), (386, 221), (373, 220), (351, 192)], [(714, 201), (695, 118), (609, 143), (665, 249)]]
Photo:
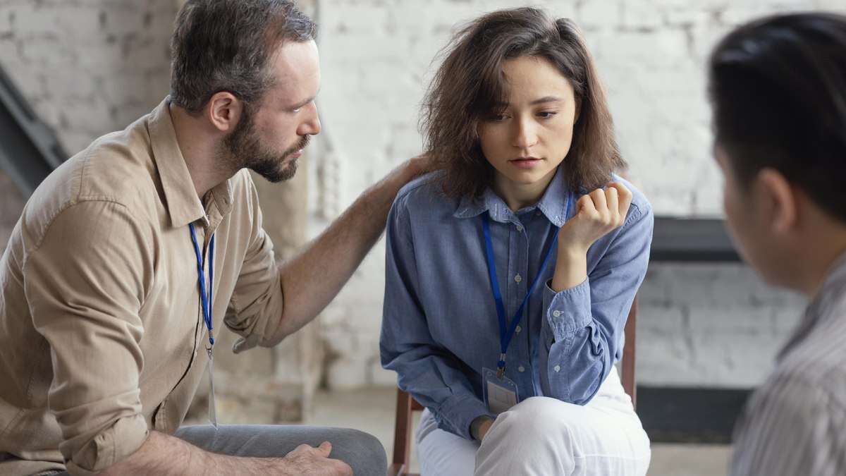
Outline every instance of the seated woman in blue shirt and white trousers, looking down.
[(614, 363), (644, 279), (649, 202), (624, 167), (569, 19), (500, 10), (453, 39), (428, 91), (437, 171), (388, 216), (382, 365), (426, 411), (424, 476), (643, 475)]

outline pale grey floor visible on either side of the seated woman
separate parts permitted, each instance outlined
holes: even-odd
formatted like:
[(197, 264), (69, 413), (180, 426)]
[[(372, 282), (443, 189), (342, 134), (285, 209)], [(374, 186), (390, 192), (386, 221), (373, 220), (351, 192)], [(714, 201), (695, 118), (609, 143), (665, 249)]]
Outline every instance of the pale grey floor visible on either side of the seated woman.
[[(396, 390), (372, 388), (349, 392), (321, 392), (307, 424), (361, 429), (373, 434), (387, 451), (393, 451)], [(729, 447), (723, 445), (652, 445), (649, 476), (721, 476), (728, 467)], [(412, 471), (417, 470), (414, 451)]]

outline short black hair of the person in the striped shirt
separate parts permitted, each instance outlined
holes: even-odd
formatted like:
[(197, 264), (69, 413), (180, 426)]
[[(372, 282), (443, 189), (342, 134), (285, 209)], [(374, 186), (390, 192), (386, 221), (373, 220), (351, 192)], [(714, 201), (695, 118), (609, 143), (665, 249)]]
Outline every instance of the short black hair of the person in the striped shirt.
[(741, 185), (776, 169), (846, 222), (846, 16), (784, 14), (739, 27), (711, 54), (717, 146)]

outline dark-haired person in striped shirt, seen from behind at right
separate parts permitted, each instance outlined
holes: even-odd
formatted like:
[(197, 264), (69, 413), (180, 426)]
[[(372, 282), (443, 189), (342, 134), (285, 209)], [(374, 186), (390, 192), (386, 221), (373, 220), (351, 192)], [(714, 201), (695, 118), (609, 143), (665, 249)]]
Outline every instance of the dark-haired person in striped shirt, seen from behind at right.
[(846, 474), (846, 16), (757, 19), (708, 69), (733, 241), (810, 298), (737, 424), (731, 473)]

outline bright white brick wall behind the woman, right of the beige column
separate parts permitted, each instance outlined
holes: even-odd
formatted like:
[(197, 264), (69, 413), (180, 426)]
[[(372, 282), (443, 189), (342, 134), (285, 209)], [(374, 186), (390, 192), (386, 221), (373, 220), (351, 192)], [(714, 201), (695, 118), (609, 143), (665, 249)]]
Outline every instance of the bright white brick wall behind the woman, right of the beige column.
[[(525, 4), (573, 18), (585, 31), (629, 175), (656, 213), (677, 216), (722, 215), (704, 73), (715, 42), (762, 14), (846, 11), (842, 0), (321, 0), (319, 102), (335, 154), (332, 163), (313, 163), (312, 174), (321, 167), (343, 174), (312, 189), (314, 216), (331, 215), (323, 212), (330, 203), (343, 208), (420, 151), (420, 101), (454, 26)], [(383, 254), (380, 244), (324, 317), (332, 387), (395, 381), (378, 365)], [(641, 297), (639, 378), (667, 385), (757, 384), (804, 306), (736, 265), (653, 265)]]

